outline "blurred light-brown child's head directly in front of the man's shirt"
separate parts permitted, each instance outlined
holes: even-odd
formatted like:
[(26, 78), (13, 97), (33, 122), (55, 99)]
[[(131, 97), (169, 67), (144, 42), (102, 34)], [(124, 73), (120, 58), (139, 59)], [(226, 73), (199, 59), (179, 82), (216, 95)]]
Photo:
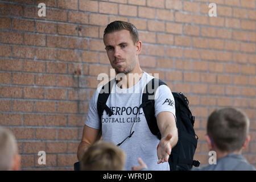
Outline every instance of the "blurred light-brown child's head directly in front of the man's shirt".
[(126, 155), (113, 143), (98, 141), (82, 156), (82, 171), (122, 171)]

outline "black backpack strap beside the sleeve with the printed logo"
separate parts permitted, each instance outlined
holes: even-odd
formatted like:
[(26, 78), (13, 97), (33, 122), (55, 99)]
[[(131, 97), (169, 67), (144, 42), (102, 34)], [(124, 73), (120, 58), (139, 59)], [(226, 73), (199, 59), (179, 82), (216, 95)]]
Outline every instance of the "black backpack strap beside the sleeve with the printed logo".
[(158, 123), (156, 122), (155, 118), (154, 98), (156, 89), (158, 89), (160, 85), (166, 85), (166, 83), (158, 78), (153, 78), (147, 83), (142, 94), (142, 108), (145, 114), (145, 118), (147, 120), (147, 125), (151, 133), (154, 135), (158, 135), (158, 138), (160, 138), (160, 131), (158, 129)]

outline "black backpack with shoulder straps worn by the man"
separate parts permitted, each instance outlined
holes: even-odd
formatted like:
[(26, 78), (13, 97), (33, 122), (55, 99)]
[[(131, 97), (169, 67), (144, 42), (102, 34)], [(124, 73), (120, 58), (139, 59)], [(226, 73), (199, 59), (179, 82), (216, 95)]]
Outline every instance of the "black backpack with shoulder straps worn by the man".
[[(148, 97), (154, 96), (155, 90), (158, 88), (158, 86), (166, 85), (166, 83), (164, 83), (160, 79), (156, 79), (157, 78), (153, 78), (146, 85), (142, 95), (142, 104), (139, 106), (139, 108), (143, 108), (143, 112), (145, 114), (145, 118), (151, 133), (156, 135), (156, 137), (160, 139), (161, 135), (155, 118), (155, 100), (149, 100)], [(106, 110), (106, 113), (109, 116), (113, 114), (112, 110), (110, 110), (110, 108), (106, 105), (106, 101), (108, 100), (114, 82), (115, 79), (109, 81), (108, 84), (102, 86), (102, 89), (98, 95), (97, 109), (100, 121), (104, 110)], [(155, 83), (157, 83), (156, 86)], [(152, 90), (154, 92), (152, 92)], [(195, 117), (189, 110), (189, 102), (187, 97), (185, 97), (184, 94), (181, 92), (172, 92), (172, 94), (175, 100), (178, 142), (176, 146), (172, 148), (168, 162), (170, 164), (171, 171), (190, 170), (192, 166), (199, 167), (200, 165), (200, 162), (198, 160), (193, 160), (198, 140), (198, 137), (195, 134), (195, 130), (193, 129)]]

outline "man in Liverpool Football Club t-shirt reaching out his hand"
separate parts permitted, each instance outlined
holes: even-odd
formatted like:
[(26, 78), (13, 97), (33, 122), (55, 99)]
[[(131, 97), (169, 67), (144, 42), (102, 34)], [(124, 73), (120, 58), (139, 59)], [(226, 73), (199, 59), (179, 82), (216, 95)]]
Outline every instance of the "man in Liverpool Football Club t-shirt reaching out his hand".
[[(159, 141), (148, 128), (143, 110), (139, 109), (143, 89), (153, 77), (139, 66), (142, 42), (139, 41), (136, 27), (122, 21), (110, 23), (104, 31), (104, 44), (110, 64), (117, 74), (106, 102), (114, 114), (109, 117), (104, 111), (102, 118), (98, 118), (97, 89), (89, 105), (77, 158), (81, 160), (83, 152), (96, 142), (102, 129), (103, 140), (119, 143), (119, 147), (126, 152), (126, 170), (131, 170), (138, 158), (147, 162), (152, 170), (170, 170), (168, 158), (171, 147), (177, 143), (175, 106), (165, 102), (167, 98), (174, 101), (170, 88), (161, 85), (156, 90), (155, 117), (162, 135)], [(134, 75), (137, 76), (135, 82)]]

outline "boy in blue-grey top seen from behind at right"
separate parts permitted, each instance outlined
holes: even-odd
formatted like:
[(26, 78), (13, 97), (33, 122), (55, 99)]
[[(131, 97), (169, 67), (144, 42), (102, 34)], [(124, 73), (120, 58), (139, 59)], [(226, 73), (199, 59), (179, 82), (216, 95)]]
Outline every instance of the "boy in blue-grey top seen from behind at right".
[(249, 122), (245, 113), (233, 107), (213, 111), (207, 122), (206, 140), (210, 151), (216, 152), (217, 162), (193, 170), (254, 171), (241, 155), (250, 141)]

